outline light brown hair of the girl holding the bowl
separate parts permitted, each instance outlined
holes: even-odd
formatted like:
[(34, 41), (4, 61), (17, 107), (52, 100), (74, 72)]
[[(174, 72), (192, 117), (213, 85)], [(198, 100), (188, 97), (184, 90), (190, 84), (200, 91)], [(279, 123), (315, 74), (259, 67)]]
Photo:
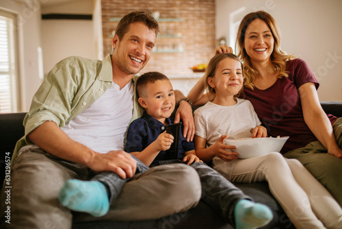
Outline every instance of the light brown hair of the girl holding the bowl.
[[(215, 76), (215, 71), (218, 67), (218, 64), (220, 63), (221, 60), (224, 60), (225, 58), (231, 58), (233, 60), (237, 60), (239, 61), (239, 63), (241, 64), (241, 73), (243, 74), (243, 69), (244, 69), (244, 65), (242, 64), (241, 60), (233, 53), (221, 53), (218, 55), (213, 56), (213, 58), (211, 58), (211, 60), (209, 61), (209, 64), (207, 66), (207, 69), (205, 71), (205, 88), (207, 89), (207, 93), (208, 95), (216, 95), (215, 92), (215, 88), (211, 87), (208, 84), (208, 78), (209, 77), (214, 77)], [(239, 93), (237, 93), (237, 95), (235, 95), (235, 97), (239, 97), (239, 95), (241, 95), (242, 91), (244, 87), (241, 88), (241, 90), (239, 91)]]

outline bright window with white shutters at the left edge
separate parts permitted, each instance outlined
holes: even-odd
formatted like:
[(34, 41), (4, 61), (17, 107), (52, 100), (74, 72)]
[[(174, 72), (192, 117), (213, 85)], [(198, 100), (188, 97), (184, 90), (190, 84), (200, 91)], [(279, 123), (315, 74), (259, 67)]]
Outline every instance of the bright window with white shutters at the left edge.
[(0, 112), (18, 111), (15, 14), (0, 10)]

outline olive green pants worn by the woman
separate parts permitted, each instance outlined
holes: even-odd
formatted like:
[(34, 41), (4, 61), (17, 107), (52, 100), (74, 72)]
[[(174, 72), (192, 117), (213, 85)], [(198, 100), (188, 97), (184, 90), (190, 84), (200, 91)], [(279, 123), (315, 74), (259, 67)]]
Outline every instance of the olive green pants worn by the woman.
[[(342, 149), (342, 118), (337, 119), (332, 128), (337, 144)], [(342, 206), (342, 158), (328, 154), (319, 141), (293, 149), (284, 156), (299, 160)]]

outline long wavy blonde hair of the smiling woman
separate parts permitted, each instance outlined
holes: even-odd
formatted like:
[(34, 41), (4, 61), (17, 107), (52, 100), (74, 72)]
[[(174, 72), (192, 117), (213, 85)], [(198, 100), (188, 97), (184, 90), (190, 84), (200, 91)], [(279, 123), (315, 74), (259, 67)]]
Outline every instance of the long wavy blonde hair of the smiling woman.
[(269, 64), (270, 72), (278, 73), (279, 78), (289, 77), (286, 71), (286, 61), (291, 60), (291, 58), (295, 58), (292, 54), (287, 55), (285, 51), (280, 49), (280, 32), (278, 25), (276, 25), (276, 21), (274, 21), (270, 14), (264, 11), (257, 11), (251, 12), (244, 16), (244, 19), (242, 19), (237, 31), (237, 45), (239, 47), (239, 53), (237, 56), (239, 56), (239, 58), (241, 58), (241, 60), (244, 62), (244, 86), (250, 89), (254, 89), (255, 75), (257, 75), (258, 72), (253, 69), (252, 63), (250, 62), (250, 57), (246, 53), (244, 45), (246, 29), (248, 25), (250, 25), (250, 23), (252, 23), (252, 21), (255, 19), (261, 19), (265, 21), (272, 32), (272, 36), (274, 37), (274, 49), (271, 54), (271, 63)]

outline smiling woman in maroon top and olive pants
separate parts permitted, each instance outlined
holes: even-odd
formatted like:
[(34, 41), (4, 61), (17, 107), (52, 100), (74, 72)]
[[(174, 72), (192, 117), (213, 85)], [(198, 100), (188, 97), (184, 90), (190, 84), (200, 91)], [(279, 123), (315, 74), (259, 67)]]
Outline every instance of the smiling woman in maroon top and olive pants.
[[(319, 104), (315, 76), (306, 62), (280, 49), (278, 27), (266, 12), (252, 12), (237, 32), (238, 56), (244, 62), (244, 94), (269, 136), (290, 136), (282, 149), (296, 158), (342, 206), (342, 119), (326, 115)], [(215, 54), (231, 53), (221, 45)], [(212, 97), (203, 95), (202, 78), (190, 91), (194, 104)], [(333, 124), (333, 125), (332, 125)]]

